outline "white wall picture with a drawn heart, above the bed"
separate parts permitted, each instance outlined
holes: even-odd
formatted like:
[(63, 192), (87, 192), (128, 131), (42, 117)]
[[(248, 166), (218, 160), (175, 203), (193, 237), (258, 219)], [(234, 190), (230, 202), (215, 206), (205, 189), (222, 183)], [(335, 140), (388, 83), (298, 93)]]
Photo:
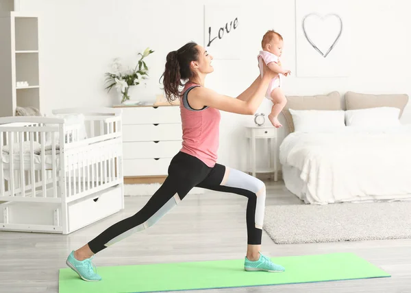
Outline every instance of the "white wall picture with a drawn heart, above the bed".
[(295, 0), (297, 78), (349, 76), (350, 17), (344, 1)]

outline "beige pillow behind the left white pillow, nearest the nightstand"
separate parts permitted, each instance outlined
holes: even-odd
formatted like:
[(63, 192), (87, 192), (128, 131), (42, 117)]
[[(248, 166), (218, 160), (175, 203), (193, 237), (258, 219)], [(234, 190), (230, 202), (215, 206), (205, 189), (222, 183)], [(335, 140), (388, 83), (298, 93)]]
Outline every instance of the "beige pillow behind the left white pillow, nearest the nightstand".
[(287, 104), (282, 113), (286, 118), (288, 130), (294, 132), (294, 123), (289, 108), (293, 110), (341, 110), (340, 93), (333, 91), (328, 95), (287, 96)]

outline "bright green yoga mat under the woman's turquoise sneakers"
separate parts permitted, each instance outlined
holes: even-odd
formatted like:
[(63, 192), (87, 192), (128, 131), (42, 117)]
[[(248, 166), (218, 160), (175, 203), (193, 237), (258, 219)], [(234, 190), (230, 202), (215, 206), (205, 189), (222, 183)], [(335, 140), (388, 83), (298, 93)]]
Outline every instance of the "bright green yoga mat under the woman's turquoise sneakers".
[(60, 293), (135, 293), (234, 288), (390, 277), (353, 253), (275, 257), (285, 272), (246, 272), (244, 259), (99, 267), (103, 278), (85, 282), (70, 268), (60, 270)]

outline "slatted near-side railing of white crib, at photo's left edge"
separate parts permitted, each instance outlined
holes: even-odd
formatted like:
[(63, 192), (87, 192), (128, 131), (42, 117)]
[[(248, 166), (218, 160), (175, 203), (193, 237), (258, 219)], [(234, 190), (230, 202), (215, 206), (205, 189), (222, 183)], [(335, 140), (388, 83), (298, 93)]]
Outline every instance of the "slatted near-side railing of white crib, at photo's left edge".
[[(8, 119), (9, 118), (9, 119)], [(10, 117), (1, 118), (10, 121)], [(0, 125), (0, 195), (2, 197), (47, 197), (47, 186), (58, 186), (58, 137), (63, 119), (13, 117), (14, 123)], [(61, 132), (61, 134), (60, 134)], [(46, 159), (46, 145), (51, 159)], [(47, 162), (48, 161), (48, 162)], [(40, 194), (41, 196), (38, 196)], [(57, 198), (57, 190), (53, 191)]]

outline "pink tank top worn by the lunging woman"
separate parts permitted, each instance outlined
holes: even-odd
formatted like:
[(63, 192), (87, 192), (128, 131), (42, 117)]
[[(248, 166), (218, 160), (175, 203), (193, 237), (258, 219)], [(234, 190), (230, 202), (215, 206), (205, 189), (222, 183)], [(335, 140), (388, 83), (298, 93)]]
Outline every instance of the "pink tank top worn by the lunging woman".
[(180, 98), (180, 115), (182, 117), (183, 147), (181, 152), (197, 157), (214, 167), (219, 149), (220, 111), (208, 106), (195, 110), (188, 104), (187, 95), (199, 84), (186, 83), (183, 96)]

